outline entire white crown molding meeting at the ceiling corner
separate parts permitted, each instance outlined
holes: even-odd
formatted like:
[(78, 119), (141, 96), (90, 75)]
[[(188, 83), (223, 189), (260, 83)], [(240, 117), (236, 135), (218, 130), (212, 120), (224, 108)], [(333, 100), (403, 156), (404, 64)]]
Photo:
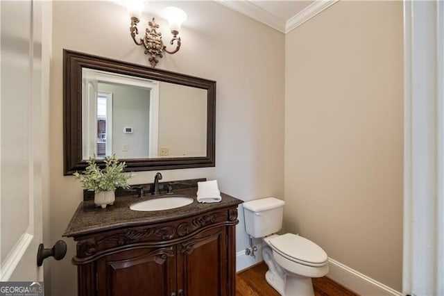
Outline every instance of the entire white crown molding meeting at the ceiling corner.
[(334, 3), (339, 0), (316, 0), (311, 3), (307, 8), (301, 10), (297, 15), (294, 15), (287, 21), (284, 19), (280, 19), (275, 15), (268, 13), (268, 11), (256, 6), (254, 3), (250, 1), (239, 1), (239, 0), (215, 0), (216, 2), (226, 6), (238, 13), (242, 13), (248, 17), (251, 17), (258, 22), (262, 22), (271, 28), (274, 28), (276, 31), (280, 31), (281, 33), (287, 34), (292, 31), (294, 28), (297, 28), (301, 24), (307, 22), (307, 20), (311, 19), (318, 13), (321, 13), (323, 10), (329, 8)]

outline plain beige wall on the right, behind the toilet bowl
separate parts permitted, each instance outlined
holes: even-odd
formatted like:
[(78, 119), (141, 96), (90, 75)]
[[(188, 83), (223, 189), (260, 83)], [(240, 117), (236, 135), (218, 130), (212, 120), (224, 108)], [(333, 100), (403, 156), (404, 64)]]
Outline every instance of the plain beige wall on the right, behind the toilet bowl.
[(285, 42), (287, 231), (401, 290), (402, 1), (340, 1)]

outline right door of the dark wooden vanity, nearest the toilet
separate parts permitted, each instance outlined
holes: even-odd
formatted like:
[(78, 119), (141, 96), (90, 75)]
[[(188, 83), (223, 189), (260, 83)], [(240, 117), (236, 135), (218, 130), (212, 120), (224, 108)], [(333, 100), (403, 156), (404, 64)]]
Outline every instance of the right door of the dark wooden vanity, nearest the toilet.
[(178, 244), (178, 296), (227, 295), (225, 227)]

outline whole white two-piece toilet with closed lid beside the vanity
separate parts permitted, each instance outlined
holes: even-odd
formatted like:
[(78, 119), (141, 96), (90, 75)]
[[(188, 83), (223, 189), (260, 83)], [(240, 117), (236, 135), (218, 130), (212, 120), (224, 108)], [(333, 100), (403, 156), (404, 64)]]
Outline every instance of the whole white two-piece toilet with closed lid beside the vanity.
[(284, 204), (274, 197), (244, 202), (246, 232), (264, 239), (262, 254), (268, 265), (265, 278), (280, 295), (312, 296), (311, 278), (328, 272), (327, 253), (296, 234), (274, 234), (282, 228)]

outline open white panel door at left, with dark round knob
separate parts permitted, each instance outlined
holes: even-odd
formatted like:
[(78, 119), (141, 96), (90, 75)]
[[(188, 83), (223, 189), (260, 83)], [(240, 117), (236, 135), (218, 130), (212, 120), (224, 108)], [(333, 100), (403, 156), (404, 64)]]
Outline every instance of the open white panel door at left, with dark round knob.
[(0, 281), (43, 281), (43, 6), (0, 1)]

